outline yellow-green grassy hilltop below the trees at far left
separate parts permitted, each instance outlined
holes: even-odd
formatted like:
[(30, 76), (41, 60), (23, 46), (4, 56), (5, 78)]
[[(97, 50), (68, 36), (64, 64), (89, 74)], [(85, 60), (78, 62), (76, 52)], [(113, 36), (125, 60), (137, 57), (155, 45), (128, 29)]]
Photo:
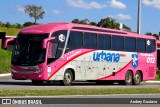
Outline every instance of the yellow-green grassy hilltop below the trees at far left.
[(0, 32), (6, 32), (7, 36), (17, 36), (20, 29), (0, 27)]

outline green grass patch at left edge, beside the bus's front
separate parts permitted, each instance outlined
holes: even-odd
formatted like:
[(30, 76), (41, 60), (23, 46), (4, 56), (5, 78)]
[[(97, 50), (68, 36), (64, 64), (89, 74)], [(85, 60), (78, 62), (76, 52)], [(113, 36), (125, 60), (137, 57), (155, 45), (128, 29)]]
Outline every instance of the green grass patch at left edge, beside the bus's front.
[(0, 49), (0, 74), (9, 73), (10, 67), (11, 67), (11, 52)]

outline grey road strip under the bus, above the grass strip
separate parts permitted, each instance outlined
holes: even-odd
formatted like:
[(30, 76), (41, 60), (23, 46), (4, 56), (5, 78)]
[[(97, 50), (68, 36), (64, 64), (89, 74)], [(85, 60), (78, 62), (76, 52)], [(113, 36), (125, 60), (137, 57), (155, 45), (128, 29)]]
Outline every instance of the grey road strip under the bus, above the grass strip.
[(60, 86), (59, 83), (49, 83), (44, 84), (44, 86), (34, 86), (31, 84), (30, 80), (13, 80), (10, 76), (0, 77), (0, 89), (103, 89), (103, 88), (156, 88), (160, 87), (160, 82), (150, 83), (150, 82), (142, 82), (141, 85), (138, 86), (125, 86), (125, 85), (96, 85), (94, 82), (76, 82), (73, 83), (72, 86)]

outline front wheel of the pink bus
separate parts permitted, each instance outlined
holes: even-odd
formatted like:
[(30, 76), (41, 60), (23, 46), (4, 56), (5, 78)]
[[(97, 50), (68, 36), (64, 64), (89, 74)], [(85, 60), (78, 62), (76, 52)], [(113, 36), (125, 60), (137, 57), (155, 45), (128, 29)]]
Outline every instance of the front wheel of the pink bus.
[(67, 69), (64, 73), (63, 80), (60, 81), (61, 85), (70, 86), (73, 82), (73, 73), (71, 70)]

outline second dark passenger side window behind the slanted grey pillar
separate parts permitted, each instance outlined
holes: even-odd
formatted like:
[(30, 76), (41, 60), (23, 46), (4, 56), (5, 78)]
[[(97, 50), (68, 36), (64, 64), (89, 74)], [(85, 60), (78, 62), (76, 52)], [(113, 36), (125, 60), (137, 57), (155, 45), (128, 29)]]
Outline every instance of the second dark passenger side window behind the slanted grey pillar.
[(95, 49), (97, 47), (97, 35), (93, 33), (84, 33), (84, 48)]

